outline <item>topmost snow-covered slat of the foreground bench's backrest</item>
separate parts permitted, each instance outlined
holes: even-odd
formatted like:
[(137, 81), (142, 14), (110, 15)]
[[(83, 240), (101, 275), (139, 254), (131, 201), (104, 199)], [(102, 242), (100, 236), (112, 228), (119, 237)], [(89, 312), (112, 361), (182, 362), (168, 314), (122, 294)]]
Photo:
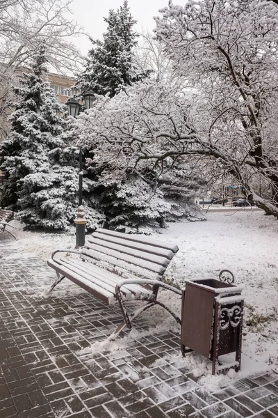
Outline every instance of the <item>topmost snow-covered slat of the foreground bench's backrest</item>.
[(122, 245), (122, 247), (124, 248), (137, 249), (138, 251), (144, 251), (145, 254), (149, 254), (149, 258), (151, 258), (152, 254), (163, 258), (172, 259), (173, 257), (173, 251), (170, 249), (154, 247), (154, 245), (149, 245), (148, 243), (142, 244), (142, 242), (137, 242), (135, 240), (124, 240), (123, 238), (115, 237), (114, 235), (99, 233), (97, 231), (90, 235), (87, 241), (96, 244), (98, 243), (98, 241), (101, 241), (99, 242), (99, 245), (104, 245), (102, 244), (102, 242), (110, 242), (111, 245), (116, 244)]

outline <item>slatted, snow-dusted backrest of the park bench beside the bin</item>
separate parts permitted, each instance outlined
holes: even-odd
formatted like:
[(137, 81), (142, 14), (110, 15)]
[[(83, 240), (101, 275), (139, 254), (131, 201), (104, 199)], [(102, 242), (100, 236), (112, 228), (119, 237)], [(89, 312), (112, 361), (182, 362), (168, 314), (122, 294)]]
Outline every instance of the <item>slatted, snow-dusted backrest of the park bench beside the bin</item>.
[(161, 279), (177, 251), (179, 247), (170, 242), (107, 229), (92, 233), (81, 250), (86, 260), (93, 259), (101, 267), (124, 277), (128, 277), (127, 272), (152, 279)]

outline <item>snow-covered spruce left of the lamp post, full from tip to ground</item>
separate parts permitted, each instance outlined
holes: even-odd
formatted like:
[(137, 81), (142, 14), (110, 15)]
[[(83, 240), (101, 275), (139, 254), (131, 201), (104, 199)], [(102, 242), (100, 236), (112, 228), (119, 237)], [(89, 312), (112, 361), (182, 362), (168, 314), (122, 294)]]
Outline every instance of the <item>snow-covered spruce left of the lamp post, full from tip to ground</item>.
[(65, 106), (45, 81), (45, 64), (40, 47), (15, 89), (10, 134), (0, 148), (6, 175), (1, 204), (19, 211), (28, 229), (67, 229), (78, 206), (78, 154), (63, 148)]

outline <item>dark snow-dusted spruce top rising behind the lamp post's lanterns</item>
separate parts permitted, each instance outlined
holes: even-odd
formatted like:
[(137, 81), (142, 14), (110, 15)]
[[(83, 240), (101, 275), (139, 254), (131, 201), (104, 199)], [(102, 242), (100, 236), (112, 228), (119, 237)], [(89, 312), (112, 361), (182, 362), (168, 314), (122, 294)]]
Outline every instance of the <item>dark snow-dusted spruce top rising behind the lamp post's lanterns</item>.
[(104, 40), (91, 40), (93, 47), (88, 53), (87, 65), (76, 82), (81, 94), (92, 90), (113, 97), (122, 86), (129, 86), (149, 74), (135, 64), (133, 47), (138, 35), (133, 31), (136, 20), (129, 13), (128, 2), (125, 0), (117, 11), (111, 9), (104, 21), (108, 25)]

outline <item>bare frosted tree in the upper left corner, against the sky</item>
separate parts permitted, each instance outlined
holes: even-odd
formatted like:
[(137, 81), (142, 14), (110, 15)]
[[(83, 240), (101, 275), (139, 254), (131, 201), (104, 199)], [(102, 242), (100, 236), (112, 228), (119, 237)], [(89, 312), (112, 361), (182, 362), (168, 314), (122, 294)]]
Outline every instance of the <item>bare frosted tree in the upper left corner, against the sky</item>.
[(44, 45), (56, 72), (80, 70), (83, 57), (72, 42), (81, 28), (70, 19), (71, 0), (0, 1), (0, 142), (8, 132), (12, 86), (19, 86), (22, 68), (28, 67)]

